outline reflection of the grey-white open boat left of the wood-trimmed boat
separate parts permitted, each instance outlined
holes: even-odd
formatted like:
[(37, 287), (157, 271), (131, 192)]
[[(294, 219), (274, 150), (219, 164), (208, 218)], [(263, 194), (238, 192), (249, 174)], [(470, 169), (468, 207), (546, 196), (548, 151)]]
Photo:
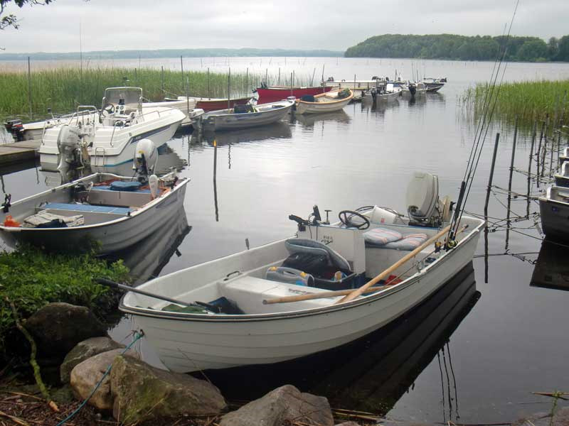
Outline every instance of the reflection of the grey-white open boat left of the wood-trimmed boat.
[(213, 146), (213, 141), (217, 141), (218, 146), (233, 145), (242, 142), (270, 141), (271, 139), (292, 138), (290, 126), (285, 121), (267, 124), (262, 127), (252, 127), (250, 129), (239, 129), (227, 132), (197, 132), (191, 134), (192, 145)]

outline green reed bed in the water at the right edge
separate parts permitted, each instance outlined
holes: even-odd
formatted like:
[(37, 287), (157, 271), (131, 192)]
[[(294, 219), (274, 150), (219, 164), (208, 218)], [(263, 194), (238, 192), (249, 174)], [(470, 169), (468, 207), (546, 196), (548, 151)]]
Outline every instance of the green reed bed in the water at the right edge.
[[(467, 89), (462, 94), (463, 107), (481, 116), (489, 89), (486, 83)], [(518, 116), (521, 122), (531, 124), (547, 115), (551, 120), (569, 118), (569, 80), (504, 83), (494, 88), (496, 93), (495, 119), (513, 122)]]

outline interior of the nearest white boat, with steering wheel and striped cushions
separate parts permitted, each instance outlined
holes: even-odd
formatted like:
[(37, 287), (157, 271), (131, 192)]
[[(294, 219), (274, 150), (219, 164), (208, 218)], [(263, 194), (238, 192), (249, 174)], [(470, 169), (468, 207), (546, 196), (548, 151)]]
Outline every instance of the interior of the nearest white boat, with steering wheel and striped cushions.
[[(123, 304), (208, 315), (259, 315), (332, 305), (339, 296), (275, 304), (264, 301), (361, 287), (435, 236), (440, 226), (447, 223), (447, 218), (439, 213), (442, 203), (438, 200), (436, 176), (415, 174), (408, 202), (411, 202), (408, 217), (391, 209), (368, 206), (340, 212), (340, 222), (334, 224), (322, 220), (318, 207), (314, 206), (308, 219), (289, 217), (298, 227), (293, 238), (203, 263), (143, 285), (144, 290), (193, 306), (183, 307), (135, 293), (125, 295)], [(461, 225), (474, 228), (480, 222), (464, 217)], [(457, 236), (457, 241), (461, 238), (464, 236)], [(436, 261), (444, 251), (435, 251), (433, 247), (422, 249), (378, 286), (384, 289), (397, 285)]]

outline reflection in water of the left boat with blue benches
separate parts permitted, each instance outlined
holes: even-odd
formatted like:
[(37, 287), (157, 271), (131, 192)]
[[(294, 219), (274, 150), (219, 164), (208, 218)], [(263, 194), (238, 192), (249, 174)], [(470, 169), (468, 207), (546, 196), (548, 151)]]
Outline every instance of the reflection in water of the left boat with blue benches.
[[(184, 205), (159, 229), (134, 246), (106, 256), (115, 261), (122, 259), (129, 268), (132, 284), (139, 285), (159, 275), (191, 230)], [(178, 253), (179, 256), (179, 253)]]

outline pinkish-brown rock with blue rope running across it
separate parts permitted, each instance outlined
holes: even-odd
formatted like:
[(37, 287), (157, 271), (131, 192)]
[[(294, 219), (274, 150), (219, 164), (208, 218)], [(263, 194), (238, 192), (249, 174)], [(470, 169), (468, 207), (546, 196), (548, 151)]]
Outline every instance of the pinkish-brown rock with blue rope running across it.
[[(112, 351), (91, 356), (71, 370), (70, 385), (78, 399), (83, 400), (90, 395), (93, 388), (105, 374), (105, 371), (107, 371), (107, 368), (115, 361), (117, 356), (122, 354), (122, 351), (124, 349), (113, 349)], [(132, 349), (129, 349), (125, 355), (127, 355), (126, 358), (139, 358), (139, 354)], [(89, 399), (88, 404), (99, 410), (112, 410), (112, 400), (110, 375), (107, 375), (99, 388), (97, 388), (97, 391)]]

